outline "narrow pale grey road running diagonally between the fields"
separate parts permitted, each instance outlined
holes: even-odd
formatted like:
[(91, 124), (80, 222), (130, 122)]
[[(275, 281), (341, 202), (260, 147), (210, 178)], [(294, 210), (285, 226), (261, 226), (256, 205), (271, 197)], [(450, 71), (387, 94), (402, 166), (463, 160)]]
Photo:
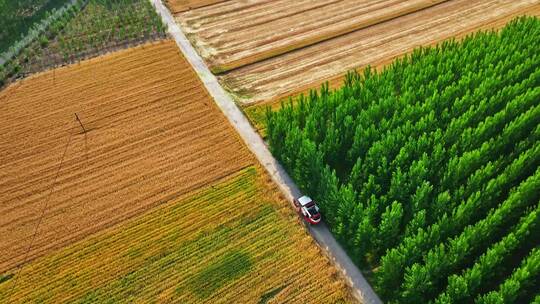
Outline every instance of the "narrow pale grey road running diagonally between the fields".
[[(280, 187), (289, 202), (293, 197), (297, 197), (300, 191), (291, 180), (287, 172), (272, 156), (265, 142), (253, 129), (242, 111), (236, 106), (227, 92), (221, 87), (217, 78), (210, 72), (201, 57), (197, 54), (189, 40), (186, 38), (180, 27), (174, 21), (169, 10), (163, 5), (161, 0), (149, 0), (156, 11), (167, 24), (169, 33), (175, 39), (178, 47), (191, 63), (206, 89), (214, 98), (216, 104), (223, 111), (233, 127), (240, 134), (248, 148), (257, 157), (259, 162), (266, 168), (274, 182)], [(373, 291), (360, 270), (347, 256), (343, 248), (334, 239), (328, 227), (321, 223), (318, 226), (310, 226), (309, 232), (317, 241), (319, 246), (333, 261), (335, 266), (343, 273), (347, 283), (352, 287), (353, 295), (362, 303), (379, 304), (382, 301)]]

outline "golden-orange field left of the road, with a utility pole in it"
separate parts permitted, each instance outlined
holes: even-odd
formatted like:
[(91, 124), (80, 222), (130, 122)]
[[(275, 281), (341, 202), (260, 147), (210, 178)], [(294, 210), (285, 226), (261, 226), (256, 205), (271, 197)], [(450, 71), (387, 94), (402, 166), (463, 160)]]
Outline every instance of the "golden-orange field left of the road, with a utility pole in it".
[(42, 212), (29, 259), (253, 164), (172, 41), (15, 83), (0, 109), (0, 272)]

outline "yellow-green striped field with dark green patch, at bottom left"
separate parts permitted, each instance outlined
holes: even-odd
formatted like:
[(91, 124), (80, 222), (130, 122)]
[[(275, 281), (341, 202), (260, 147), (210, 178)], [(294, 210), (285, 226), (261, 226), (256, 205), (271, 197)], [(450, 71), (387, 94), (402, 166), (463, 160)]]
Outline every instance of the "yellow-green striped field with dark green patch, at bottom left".
[(250, 167), (30, 263), (10, 303), (349, 303), (276, 186)]

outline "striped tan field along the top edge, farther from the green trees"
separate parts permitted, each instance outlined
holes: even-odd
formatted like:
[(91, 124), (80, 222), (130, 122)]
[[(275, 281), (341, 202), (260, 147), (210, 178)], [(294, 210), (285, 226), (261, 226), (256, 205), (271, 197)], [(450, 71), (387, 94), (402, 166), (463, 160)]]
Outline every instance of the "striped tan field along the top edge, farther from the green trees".
[(228, 1), (179, 14), (177, 20), (219, 73), (444, 1)]

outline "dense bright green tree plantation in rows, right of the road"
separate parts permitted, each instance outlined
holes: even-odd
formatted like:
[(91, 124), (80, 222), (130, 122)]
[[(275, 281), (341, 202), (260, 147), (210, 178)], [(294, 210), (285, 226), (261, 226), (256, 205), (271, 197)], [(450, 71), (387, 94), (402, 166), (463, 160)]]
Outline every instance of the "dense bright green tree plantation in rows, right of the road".
[(385, 302), (538, 299), (539, 33), (517, 19), (268, 109), (272, 153)]

